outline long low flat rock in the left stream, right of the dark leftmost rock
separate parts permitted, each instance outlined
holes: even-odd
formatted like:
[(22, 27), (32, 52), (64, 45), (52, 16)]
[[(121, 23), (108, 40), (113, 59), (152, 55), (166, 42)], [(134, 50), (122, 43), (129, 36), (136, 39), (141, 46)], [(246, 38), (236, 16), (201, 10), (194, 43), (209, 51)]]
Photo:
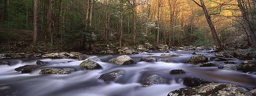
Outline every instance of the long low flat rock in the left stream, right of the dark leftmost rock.
[(42, 68), (40, 74), (70, 74), (76, 68)]

